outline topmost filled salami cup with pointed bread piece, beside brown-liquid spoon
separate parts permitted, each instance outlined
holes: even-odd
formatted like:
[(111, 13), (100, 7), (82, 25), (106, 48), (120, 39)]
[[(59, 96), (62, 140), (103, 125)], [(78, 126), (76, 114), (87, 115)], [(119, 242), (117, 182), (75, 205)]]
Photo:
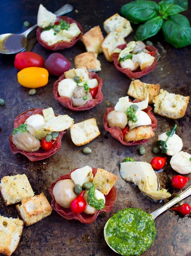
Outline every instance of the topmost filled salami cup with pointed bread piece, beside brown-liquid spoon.
[(72, 47), (82, 35), (80, 23), (67, 16), (56, 16), (40, 4), (36, 35), (39, 44), (47, 50)]

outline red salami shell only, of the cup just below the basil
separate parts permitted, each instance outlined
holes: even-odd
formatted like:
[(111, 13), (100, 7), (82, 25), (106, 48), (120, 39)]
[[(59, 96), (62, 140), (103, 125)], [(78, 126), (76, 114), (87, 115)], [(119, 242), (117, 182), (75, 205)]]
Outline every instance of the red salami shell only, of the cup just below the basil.
[[(117, 48), (123, 50), (126, 47), (126, 45), (127, 44), (122, 44), (122, 45), (119, 45)], [(120, 67), (120, 64), (118, 62), (119, 53), (113, 53), (112, 54), (112, 59), (113, 59), (113, 62), (114, 62), (114, 65), (115, 65), (116, 69), (119, 70), (120, 72), (124, 73), (126, 76), (128, 76), (131, 79), (137, 79), (139, 77), (143, 77), (143, 76), (147, 75), (148, 73), (150, 73), (157, 66), (157, 59), (156, 58), (157, 58), (158, 50), (153, 45), (146, 45), (145, 48), (149, 52), (152, 53), (153, 57), (155, 57), (155, 60), (154, 60), (154, 62), (152, 63), (151, 66), (147, 66), (143, 70), (138, 68), (135, 71), (132, 71), (129, 68), (122, 68), (122, 67)]]

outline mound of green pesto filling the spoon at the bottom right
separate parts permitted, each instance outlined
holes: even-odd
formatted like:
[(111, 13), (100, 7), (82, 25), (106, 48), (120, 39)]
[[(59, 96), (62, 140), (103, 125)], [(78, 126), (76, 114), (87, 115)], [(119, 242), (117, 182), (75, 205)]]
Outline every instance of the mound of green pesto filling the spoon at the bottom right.
[(140, 255), (154, 242), (154, 219), (139, 208), (119, 210), (108, 221), (105, 235), (108, 244), (119, 254)]

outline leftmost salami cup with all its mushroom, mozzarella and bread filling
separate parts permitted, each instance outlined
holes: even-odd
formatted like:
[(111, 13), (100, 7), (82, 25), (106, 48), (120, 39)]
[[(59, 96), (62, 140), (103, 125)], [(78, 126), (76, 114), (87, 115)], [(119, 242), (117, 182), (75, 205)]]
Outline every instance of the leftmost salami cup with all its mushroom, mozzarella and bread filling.
[(52, 107), (29, 109), (14, 121), (9, 136), (11, 151), (32, 162), (50, 157), (60, 149), (61, 139), (73, 123), (68, 115), (55, 115)]

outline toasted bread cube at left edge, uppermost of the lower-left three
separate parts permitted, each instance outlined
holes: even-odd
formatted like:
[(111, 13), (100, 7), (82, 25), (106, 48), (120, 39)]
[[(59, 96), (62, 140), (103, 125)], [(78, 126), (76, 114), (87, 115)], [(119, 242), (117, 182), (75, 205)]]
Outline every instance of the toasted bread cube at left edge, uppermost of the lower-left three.
[(21, 202), (23, 199), (34, 195), (31, 184), (25, 174), (3, 177), (0, 183), (0, 190), (6, 206)]

